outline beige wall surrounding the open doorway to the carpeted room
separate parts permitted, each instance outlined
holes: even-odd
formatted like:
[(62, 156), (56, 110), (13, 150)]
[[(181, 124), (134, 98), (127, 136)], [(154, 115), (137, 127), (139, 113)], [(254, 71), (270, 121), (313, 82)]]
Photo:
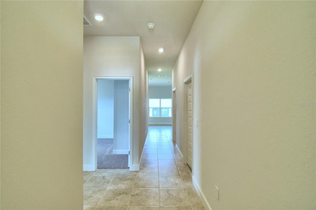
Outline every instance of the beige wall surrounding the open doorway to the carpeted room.
[[(84, 36), (83, 58), (83, 166), (92, 169), (92, 78), (93, 76), (133, 76), (133, 160), (139, 168), (141, 144), (147, 124), (142, 112), (146, 98), (146, 70), (138, 36)], [(144, 92), (144, 94), (143, 94)], [(146, 125), (145, 125), (146, 124)], [(94, 169), (92, 169), (94, 170)]]

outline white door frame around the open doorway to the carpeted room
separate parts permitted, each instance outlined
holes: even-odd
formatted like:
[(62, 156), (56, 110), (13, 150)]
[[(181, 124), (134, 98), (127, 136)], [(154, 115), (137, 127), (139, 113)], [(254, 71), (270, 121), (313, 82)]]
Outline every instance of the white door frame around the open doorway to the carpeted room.
[(131, 170), (133, 163), (133, 77), (132, 76), (93, 76), (92, 77), (92, 162), (94, 171), (97, 170), (97, 94), (98, 79), (128, 80), (129, 81), (129, 143), (128, 167)]

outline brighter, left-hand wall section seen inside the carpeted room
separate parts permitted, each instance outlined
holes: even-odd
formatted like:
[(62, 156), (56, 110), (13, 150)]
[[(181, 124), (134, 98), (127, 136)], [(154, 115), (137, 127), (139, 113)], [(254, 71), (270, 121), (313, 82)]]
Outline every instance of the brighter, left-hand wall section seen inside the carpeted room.
[(114, 80), (98, 79), (97, 138), (114, 137)]

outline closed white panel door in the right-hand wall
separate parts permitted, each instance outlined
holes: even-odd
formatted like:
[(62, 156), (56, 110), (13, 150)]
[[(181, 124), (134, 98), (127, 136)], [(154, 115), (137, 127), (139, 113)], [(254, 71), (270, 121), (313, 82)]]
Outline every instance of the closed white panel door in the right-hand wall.
[(192, 171), (192, 82), (187, 83), (187, 141), (188, 166)]

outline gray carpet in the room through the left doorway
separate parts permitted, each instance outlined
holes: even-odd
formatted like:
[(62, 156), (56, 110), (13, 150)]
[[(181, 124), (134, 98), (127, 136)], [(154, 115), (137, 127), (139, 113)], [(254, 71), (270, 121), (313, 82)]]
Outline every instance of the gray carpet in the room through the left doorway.
[(128, 169), (128, 155), (112, 154), (113, 139), (98, 139), (98, 169)]

